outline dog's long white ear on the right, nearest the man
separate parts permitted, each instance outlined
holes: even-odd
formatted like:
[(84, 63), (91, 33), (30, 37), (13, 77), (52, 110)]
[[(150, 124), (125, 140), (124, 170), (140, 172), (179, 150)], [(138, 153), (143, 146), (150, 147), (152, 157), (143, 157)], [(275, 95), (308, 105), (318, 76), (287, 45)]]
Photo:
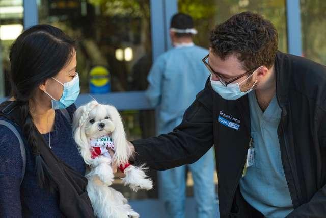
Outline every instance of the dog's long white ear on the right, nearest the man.
[(131, 150), (127, 144), (126, 133), (123, 128), (123, 123), (118, 110), (111, 105), (106, 106), (110, 112), (112, 122), (115, 125), (115, 130), (112, 133), (112, 140), (115, 145), (115, 153), (113, 159), (117, 162), (117, 165), (128, 163), (131, 155)]

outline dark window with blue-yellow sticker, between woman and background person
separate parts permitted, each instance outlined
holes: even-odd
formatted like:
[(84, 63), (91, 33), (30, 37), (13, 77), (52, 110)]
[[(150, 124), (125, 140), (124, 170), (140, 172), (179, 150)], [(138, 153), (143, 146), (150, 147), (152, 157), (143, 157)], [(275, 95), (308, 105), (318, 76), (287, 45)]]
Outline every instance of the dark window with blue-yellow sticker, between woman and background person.
[[(152, 62), (149, 0), (41, 0), (38, 7), (40, 23), (77, 40), (82, 93), (134, 90), (134, 83), (144, 82), (132, 69), (144, 57)], [(90, 75), (94, 67), (107, 74)], [(94, 76), (106, 77), (107, 83)]]

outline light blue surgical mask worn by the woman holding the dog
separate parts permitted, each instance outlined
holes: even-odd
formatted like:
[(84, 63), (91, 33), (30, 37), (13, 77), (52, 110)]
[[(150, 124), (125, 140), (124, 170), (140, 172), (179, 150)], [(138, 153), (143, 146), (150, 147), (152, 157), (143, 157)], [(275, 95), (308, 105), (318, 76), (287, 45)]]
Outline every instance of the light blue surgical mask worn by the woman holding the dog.
[(58, 83), (60, 83), (63, 86), (63, 93), (59, 100), (56, 100), (49, 93), (44, 91), (52, 99), (52, 108), (55, 110), (63, 109), (63, 108), (67, 108), (70, 105), (72, 105), (78, 98), (79, 91), (80, 91), (79, 90), (78, 74), (76, 74), (76, 76), (70, 82), (67, 82), (67, 83), (62, 83), (53, 77), (52, 77), (52, 79), (57, 81)]

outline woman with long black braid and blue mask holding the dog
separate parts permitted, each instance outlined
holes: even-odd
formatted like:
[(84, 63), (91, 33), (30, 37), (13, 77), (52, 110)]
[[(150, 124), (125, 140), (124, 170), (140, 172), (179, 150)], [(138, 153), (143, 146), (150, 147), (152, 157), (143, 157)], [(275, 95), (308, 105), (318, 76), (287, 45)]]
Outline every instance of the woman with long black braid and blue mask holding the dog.
[(70, 126), (74, 41), (50, 25), (24, 31), (11, 47), (10, 82), (12, 98), (0, 105), (0, 217), (93, 217)]

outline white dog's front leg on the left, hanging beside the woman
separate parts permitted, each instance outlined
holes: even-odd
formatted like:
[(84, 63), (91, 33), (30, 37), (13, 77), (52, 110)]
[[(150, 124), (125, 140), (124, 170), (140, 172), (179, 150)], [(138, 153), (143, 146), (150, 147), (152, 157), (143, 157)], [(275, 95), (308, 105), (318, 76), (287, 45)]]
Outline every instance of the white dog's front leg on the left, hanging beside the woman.
[(114, 180), (114, 174), (111, 168), (111, 158), (105, 156), (96, 157), (92, 164), (92, 174), (98, 176), (98, 178), (106, 185), (112, 185)]

